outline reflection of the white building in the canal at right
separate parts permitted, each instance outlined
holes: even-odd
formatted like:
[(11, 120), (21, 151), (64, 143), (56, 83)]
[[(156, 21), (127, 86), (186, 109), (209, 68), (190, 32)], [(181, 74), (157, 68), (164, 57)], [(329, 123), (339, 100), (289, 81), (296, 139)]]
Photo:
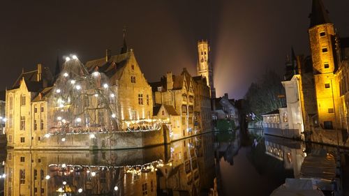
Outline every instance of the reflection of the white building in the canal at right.
[(283, 161), (285, 169), (293, 169), (295, 178), (299, 177), (306, 156), (304, 149), (305, 146), (301, 142), (265, 136), (265, 153)]

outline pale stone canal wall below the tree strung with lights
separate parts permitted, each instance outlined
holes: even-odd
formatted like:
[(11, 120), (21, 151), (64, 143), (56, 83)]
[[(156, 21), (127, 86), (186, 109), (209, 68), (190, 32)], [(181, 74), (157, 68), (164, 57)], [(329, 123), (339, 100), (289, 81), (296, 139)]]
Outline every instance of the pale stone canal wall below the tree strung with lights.
[[(43, 137), (33, 146), (16, 145), (13, 149), (31, 150), (103, 150), (138, 149), (170, 143), (170, 131), (167, 126), (158, 130), (138, 132), (114, 132), (50, 135)], [(62, 140), (63, 139), (63, 140)]]

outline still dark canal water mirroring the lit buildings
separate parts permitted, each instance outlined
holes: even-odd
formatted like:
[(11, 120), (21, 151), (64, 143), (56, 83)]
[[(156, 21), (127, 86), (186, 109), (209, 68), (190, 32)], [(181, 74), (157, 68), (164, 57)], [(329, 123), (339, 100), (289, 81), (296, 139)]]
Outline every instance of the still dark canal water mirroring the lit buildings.
[[(336, 151), (254, 130), (207, 133), (148, 149), (2, 150), (0, 195), (270, 195), (285, 178), (299, 176), (312, 149)], [(342, 153), (346, 174), (348, 152)]]

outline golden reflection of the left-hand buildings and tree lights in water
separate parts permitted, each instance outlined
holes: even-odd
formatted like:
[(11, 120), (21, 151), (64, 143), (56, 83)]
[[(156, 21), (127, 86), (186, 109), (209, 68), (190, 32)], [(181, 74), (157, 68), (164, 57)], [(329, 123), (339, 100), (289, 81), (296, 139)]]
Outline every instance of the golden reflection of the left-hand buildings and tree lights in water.
[(211, 135), (123, 151), (13, 151), (5, 195), (200, 195), (213, 187)]

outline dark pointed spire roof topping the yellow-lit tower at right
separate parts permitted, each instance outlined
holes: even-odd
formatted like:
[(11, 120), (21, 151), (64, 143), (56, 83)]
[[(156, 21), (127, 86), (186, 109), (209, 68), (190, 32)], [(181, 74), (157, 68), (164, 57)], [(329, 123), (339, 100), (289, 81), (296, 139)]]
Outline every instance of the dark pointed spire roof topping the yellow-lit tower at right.
[(313, 5), (311, 8), (310, 17), (310, 27), (315, 27), (319, 24), (332, 23), (329, 20), (328, 11), (325, 9), (322, 0), (313, 0)]

